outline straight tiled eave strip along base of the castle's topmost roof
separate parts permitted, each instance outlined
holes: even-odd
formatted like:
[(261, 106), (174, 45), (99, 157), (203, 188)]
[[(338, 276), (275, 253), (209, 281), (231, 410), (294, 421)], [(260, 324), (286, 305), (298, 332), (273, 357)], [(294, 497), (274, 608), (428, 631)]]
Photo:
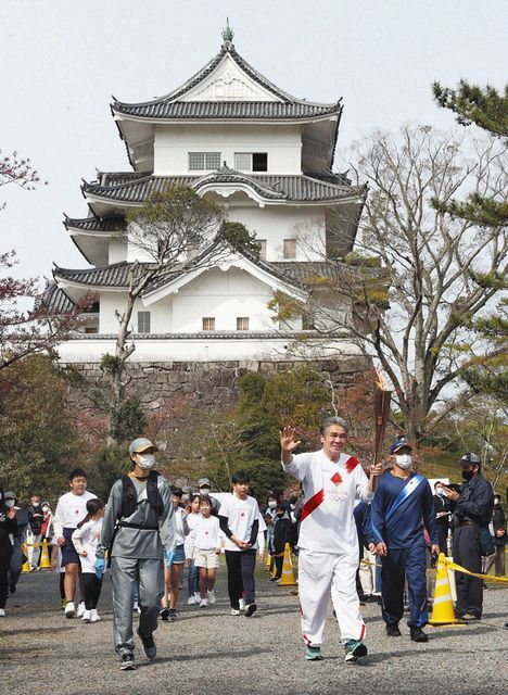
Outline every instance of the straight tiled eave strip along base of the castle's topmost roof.
[(280, 103), (278, 101), (163, 101), (149, 104), (114, 104), (115, 113), (157, 118), (179, 119), (282, 119), (300, 121), (339, 114), (338, 104), (313, 104), (305, 102)]

